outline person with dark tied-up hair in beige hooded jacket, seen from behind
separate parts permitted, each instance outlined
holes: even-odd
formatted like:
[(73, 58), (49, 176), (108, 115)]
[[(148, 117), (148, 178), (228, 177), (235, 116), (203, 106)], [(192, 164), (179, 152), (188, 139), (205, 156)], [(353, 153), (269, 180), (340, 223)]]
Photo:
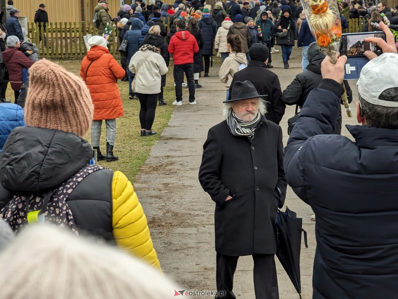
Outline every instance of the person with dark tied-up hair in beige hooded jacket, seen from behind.
[(242, 53), (242, 40), (239, 35), (233, 34), (228, 35), (226, 47), (228, 49), (229, 56), (225, 58), (219, 70), (220, 81), (225, 83), (226, 99), (228, 100), (229, 86), (241, 64), (247, 65), (246, 54)]

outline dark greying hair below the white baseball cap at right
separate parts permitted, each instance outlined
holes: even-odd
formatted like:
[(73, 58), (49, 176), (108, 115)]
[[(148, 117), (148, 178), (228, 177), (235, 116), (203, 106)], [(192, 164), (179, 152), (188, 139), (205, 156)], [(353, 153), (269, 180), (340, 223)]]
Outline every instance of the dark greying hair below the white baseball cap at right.
[[(369, 127), (398, 129), (398, 107), (385, 107), (375, 105), (364, 100), (358, 94), (359, 103), (362, 106), (366, 123)], [(383, 91), (380, 100), (398, 102), (398, 87), (393, 87)]]

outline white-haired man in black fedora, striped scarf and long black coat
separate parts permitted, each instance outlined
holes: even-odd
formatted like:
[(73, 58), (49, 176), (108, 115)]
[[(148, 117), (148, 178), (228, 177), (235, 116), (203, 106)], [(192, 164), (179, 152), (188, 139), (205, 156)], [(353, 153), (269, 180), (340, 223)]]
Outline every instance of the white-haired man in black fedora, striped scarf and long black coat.
[(209, 130), (199, 181), (215, 201), (216, 298), (232, 292), (238, 258), (252, 255), (256, 298), (279, 298), (275, 217), (286, 195), (282, 129), (264, 117), (263, 97), (236, 81), (224, 101), (226, 120)]

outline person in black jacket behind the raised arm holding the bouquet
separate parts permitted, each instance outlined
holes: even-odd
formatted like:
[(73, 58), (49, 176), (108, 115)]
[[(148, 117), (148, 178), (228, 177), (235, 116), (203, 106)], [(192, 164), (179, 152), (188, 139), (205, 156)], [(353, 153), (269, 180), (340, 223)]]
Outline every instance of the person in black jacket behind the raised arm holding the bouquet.
[[(282, 102), (287, 105), (298, 105), (300, 108), (312, 89), (318, 87), (322, 81), (321, 63), (325, 58), (325, 54), (320, 52), (316, 42), (312, 42), (308, 46), (307, 57), (310, 64), (302, 73), (296, 75), (295, 79), (283, 91)], [(347, 80), (344, 80), (344, 86), (347, 90), (348, 102), (352, 102), (352, 90)], [(341, 110), (334, 127), (335, 134), (341, 134)]]

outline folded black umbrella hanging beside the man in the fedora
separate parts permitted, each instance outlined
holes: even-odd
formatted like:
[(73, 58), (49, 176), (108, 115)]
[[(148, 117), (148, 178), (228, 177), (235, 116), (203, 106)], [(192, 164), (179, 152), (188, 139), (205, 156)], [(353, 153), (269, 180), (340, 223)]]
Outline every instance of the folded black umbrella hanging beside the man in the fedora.
[(276, 256), (281, 262), (287, 275), (296, 288), (301, 298), (300, 282), (300, 248), (301, 233), (304, 231), (305, 248), (307, 245), (307, 232), (302, 229), (302, 218), (297, 218), (295, 212), (286, 207), (286, 211), (278, 210), (275, 220), (277, 231), (278, 252)]

